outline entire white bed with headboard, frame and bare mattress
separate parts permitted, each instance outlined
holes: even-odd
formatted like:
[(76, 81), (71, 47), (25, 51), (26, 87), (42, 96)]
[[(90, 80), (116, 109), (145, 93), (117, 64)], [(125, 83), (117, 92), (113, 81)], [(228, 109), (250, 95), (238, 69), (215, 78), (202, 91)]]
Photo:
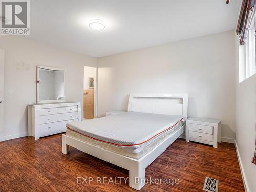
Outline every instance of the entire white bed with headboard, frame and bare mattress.
[(144, 186), (145, 168), (185, 131), (188, 94), (130, 94), (126, 113), (68, 123), (69, 146), (129, 170), (129, 186)]

